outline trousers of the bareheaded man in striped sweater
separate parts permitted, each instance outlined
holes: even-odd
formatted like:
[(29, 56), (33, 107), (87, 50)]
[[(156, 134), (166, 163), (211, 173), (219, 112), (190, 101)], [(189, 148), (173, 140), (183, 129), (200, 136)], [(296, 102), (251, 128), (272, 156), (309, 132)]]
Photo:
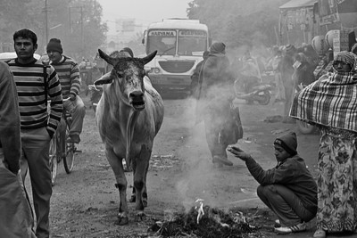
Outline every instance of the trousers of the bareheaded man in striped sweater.
[(50, 135), (46, 127), (21, 129), (21, 176), (25, 181), (29, 169), (32, 197), (37, 218), (37, 238), (49, 237), (50, 199), (52, 195), (49, 168)]

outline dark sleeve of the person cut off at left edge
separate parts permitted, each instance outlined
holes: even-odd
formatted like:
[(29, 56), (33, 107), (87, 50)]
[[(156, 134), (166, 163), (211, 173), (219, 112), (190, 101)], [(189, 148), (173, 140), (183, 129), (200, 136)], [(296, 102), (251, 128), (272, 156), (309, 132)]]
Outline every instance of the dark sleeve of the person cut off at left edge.
[(18, 95), (9, 67), (0, 62), (0, 147), (12, 173), (20, 168), (21, 135)]

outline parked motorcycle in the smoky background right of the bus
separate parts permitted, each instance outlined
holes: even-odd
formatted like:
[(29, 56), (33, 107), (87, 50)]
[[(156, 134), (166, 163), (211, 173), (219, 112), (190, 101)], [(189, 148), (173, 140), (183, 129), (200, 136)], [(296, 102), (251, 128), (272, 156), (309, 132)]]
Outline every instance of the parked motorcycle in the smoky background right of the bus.
[(238, 99), (244, 99), (247, 103), (250, 104), (252, 104), (254, 101), (261, 105), (268, 105), (270, 103), (272, 90), (271, 85), (259, 83), (255, 86), (252, 86), (247, 93), (242, 92), (240, 90), (241, 88), (242, 86), (240, 84), (240, 80), (237, 79), (234, 83), (234, 89)]

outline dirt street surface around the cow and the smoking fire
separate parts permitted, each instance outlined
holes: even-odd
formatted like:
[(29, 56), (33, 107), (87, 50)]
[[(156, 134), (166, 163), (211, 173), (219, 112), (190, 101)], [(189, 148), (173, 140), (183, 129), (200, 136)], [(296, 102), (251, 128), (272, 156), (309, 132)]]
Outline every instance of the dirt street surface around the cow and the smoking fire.
[[(257, 183), (245, 164), (233, 156), (232, 167), (213, 168), (205, 143), (203, 123), (195, 125), (195, 102), (190, 99), (165, 99), (162, 129), (154, 140), (151, 165), (147, 176), (148, 206), (145, 220), (135, 221), (135, 208), (129, 203), (129, 225), (117, 226), (119, 193), (105, 155), (104, 146), (95, 126), (95, 113), (89, 108), (88, 97), (84, 130), (81, 135), (75, 168), (70, 175), (62, 162), (51, 200), (50, 228), (52, 237), (159, 237), (148, 228), (164, 216), (187, 212), (195, 200), (222, 210), (242, 211), (253, 219), (263, 237), (275, 237), (271, 226), (275, 217), (257, 198)], [(237, 143), (250, 152), (263, 168), (276, 165), (272, 142), (295, 124), (265, 122), (270, 116), (281, 114), (281, 103), (247, 105), (235, 102), (240, 108), (245, 130)], [(315, 174), (319, 135), (298, 134), (298, 151)], [(129, 186), (131, 173), (126, 173)], [(29, 181), (27, 183), (29, 186)], [(128, 188), (128, 199), (131, 188)], [(314, 221), (307, 232), (285, 237), (311, 237)], [(178, 236), (177, 236), (178, 237)], [(253, 234), (251, 237), (254, 237)]]

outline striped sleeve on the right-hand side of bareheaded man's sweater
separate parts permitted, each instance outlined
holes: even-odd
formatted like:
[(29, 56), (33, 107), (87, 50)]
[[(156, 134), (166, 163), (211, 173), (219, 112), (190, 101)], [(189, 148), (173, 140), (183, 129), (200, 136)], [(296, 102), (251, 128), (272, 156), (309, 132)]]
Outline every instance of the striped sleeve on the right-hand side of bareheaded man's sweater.
[(56, 131), (58, 124), (60, 123), (63, 111), (62, 102), (62, 89), (60, 80), (57, 76), (54, 67), (49, 66), (47, 69), (49, 78), (47, 80), (48, 84), (48, 95), (51, 99), (50, 104), (50, 117), (47, 124), (48, 134), (52, 137)]

